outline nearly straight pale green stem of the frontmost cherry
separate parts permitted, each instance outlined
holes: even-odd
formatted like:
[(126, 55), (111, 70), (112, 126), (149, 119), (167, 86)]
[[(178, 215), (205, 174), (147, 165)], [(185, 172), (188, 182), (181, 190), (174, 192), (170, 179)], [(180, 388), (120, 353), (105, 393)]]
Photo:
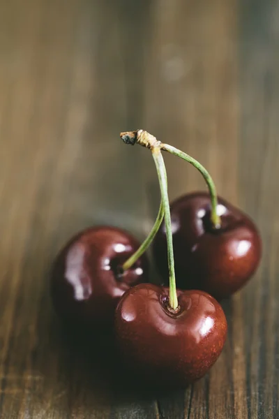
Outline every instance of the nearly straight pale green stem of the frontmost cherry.
[(169, 266), (169, 306), (172, 310), (179, 307), (176, 294), (175, 272), (174, 272), (174, 249), (172, 245), (172, 221), (169, 210), (169, 196), (167, 194), (167, 173), (165, 162), (160, 152), (160, 147), (151, 148), (152, 156), (156, 164), (160, 191), (162, 196), (163, 210), (165, 213), (165, 229), (167, 235), (167, 263)]

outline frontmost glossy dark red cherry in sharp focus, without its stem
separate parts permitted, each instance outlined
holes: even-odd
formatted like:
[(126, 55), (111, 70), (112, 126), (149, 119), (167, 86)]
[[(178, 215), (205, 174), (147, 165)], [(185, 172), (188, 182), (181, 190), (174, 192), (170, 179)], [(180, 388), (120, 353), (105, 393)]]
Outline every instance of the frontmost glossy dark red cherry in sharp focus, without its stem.
[(126, 365), (146, 383), (193, 383), (218, 359), (227, 337), (220, 304), (204, 291), (177, 291), (179, 311), (168, 307), (169, 288), (140, 284), (116, 308), (116, 343)]

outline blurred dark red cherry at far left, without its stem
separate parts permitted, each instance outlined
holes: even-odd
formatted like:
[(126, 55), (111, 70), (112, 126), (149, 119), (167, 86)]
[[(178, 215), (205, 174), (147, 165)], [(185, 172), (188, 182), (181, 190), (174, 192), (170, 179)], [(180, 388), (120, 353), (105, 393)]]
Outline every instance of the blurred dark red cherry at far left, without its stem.
[(147, 260), (142, 256), (121, 273), (121, 265), (140, 247), (119, 228), (88, 228), (66, 244), (54, 261), (51, 293), (54, 308), (77, 325), (113, 323), (121, 295), (147, 281)]

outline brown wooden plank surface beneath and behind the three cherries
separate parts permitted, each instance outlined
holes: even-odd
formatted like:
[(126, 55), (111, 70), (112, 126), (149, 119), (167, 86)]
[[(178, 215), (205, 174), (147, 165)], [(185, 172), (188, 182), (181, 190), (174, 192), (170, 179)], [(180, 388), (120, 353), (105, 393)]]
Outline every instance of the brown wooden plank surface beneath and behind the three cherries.
[[(279, 1), (0, 1), (1, 419), (279, 418)], [(229, 338), (185, 392), (130, 396), (57, 325), (56, 251), (110, 223), (143, 238), (153, 162), (119, 131), (195, 156), (264, 240), (257, 275), (223, 304)], [(169, 195), (204, 189), (166, 158)]]

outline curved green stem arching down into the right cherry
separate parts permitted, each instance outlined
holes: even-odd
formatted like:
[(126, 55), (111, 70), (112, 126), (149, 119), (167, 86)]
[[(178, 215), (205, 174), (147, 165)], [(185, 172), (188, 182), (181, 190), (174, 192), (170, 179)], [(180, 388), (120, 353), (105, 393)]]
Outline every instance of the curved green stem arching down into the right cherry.
[(176, 149), (175, 147), (172, 147), (172, 145), (163, 144), (161, 143), (160, 149), (163, 149), (165, 152), (169, 152), (171, 154), (174, 154), (174, 156), (178, 156), (183, 160), (188, 161), (188, 163), (192, 164), (204, 177), (204, 180), (209, 187), (209, 193), (211, 198), (211, 223), (214, 229), (218, 229), (221, 226), (221, 219), (220, 216), (217, 214), (217, 205), (218, 205), (218, 199), (217, 199), (217, 193), (216, 193), (216, 186), (213, 182), (213, 179), (211, 175), (209, 175), (209, 172), (204, 168), (204, 166), (201, 165), (197, 160), (193, 159), (193, 157), (189, 156), (186, 153), (181, 152), (181, 150)]

